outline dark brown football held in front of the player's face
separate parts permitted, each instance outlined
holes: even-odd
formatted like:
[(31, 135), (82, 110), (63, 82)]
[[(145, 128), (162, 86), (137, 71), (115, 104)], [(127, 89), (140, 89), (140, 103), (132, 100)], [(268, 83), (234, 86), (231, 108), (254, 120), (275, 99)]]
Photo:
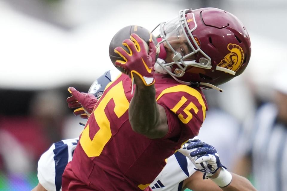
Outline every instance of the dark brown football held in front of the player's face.
[[(115, 34), (115, 36), (112, 38), (110, 46), (109, 46), (110, 59), (114, 65), (115, 65), (116, 60), (123, 60), (122, 57), (120, 57), (117, 53), (115, 53), (114, 49), (116, 47), (123, 47), (129, 53), (128, 48), (123, 46), (122, 43), (125, 39), (129, 39), (132, 33), (135, 33), (139, 37), (141, 37), (146, 42), (146, 46), (145, 46), (146, 50), (147, 51), (149, 50), (149, 39), (150, 39), (150, 36), (152, 35), (149, 30), (147, 30), (144, 27), (137, 26), (137, 25), (130, 25), (130, 26), (124, 27)], [(158, 49), (157, 55), (156, 55), (156, 59), (157, 59), (158, 53), (159, 53), (158, 42), (157, 42), (155, 36), (153, 36), (153, 35), (152, 35), (152, 40), (154, 41), (154, 43)], [(121, 72), (125, 73), (121, 67), (117, 67), (117, 66), (115, 66), (115, 67), (118, 70), (120, 70)]]

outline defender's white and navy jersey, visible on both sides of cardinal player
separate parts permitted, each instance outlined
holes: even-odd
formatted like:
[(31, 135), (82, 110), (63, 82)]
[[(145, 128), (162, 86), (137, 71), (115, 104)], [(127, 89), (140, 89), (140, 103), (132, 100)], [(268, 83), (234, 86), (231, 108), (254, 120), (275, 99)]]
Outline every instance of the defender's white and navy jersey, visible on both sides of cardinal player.
[[(53, 144), (38, 162), (39, 183), (48, 191), (59, 191), (62, 187), (62, 174), (72, 160), (78, 138), (67, 139)], [(176, 152), (167, 159), (167, 165), (150, 184), (155, 191), (179, 191), (183, 181), (194, 170), (192, 162), (183, 154)]]

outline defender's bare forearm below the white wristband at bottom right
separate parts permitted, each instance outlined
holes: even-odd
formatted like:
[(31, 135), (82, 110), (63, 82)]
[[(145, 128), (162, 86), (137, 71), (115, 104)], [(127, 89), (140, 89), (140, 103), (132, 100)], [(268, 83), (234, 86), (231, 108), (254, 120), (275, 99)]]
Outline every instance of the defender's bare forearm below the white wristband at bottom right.
[(227, 186), (222, 188), (224, 191), (256, 191), (254, 186), (251, 184), (250, 181), (248, 181), (243, 176), (239, 176), (237, 174), (232, 174), (232, 181)]

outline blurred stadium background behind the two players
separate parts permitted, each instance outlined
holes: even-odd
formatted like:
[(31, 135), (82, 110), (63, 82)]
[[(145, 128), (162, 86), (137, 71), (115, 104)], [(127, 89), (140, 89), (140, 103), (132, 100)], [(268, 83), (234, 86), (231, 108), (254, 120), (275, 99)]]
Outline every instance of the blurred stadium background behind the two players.
[[(268, 146), (271, 138), (280, 150), (287, 145), (287, 1), (0, 0), (0, 190), (31, 190), (38, 184), (41, 154), (52, 143), (75, 138), (83, 130), (79, 122), (85, 120), (67, 107), (67, 88), (87, 92), (97, 77), (114, 68), (108, 47), (119, 29), (136, 24), (152, 30), (181, 9), (201, 7), (236, 15), (249, 32), (252, 54), (245, 72), (221, 86), (224, 93), (205, 91), (210, 111), (199, 138), (217, 148), (230, 171), (260, 188), (254, 156), (268, 158), (268, 148), (277, 148)], [(275, 103), (274, 109), (256, 118), (265, 103)], [(273, 135), (274, 128), (266, 127), (266, 135), (254, 134), (259, 124), (254, 121), (270, 115), (274, 116), (269, 126), (279, 121), (283, 133)], [(214, 134), (217, 138), (210, 140)], [(254, 137), (259, 143), (267, 141), (262, 143), (266, 148)], [(266, 150), (260, 154), (256, 148)], [(287, 148), (282, 152), (274, 152), (270, 163), (283, 162), (280, 157), (287, 157)], [(274, 184), (286, 180), (287, 169), (281, 170), (284, 175), (273, 171)], [(270, 167), (259, 173), (273, 171)], [(284, 185), (280, 182), (271, 190), (284, 190)]]

